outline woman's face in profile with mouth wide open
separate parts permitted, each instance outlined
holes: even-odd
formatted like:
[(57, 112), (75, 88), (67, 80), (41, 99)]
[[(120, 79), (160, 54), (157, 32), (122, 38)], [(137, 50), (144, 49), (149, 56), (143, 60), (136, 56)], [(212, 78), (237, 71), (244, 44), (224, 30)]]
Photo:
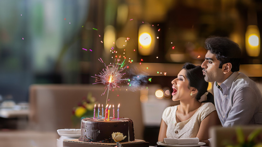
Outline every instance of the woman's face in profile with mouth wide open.
[(189, 81), (186, 78), (186, 69), (182, 69), (178, 73), (178, 77), (175, 78), (171, 83), (172, 83), (172, 88), (174, 90), (172, 93), (173, 101), (178, 101), (185, 96), (190, 96), (191, 91), (188, 88)]

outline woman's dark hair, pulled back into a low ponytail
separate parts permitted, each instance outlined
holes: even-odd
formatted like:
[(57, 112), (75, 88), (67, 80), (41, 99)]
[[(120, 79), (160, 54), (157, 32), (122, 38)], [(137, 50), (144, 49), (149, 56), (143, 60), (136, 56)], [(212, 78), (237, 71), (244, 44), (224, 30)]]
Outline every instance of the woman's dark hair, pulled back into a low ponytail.
[[(195, 87), (198, 90), (196, 99), (199, 100), (205, 92), (207, 92), (208, 82), (205, 81), (202, 67), (196, 66), (192, 63), (186, 63), (182, 69), (186, 69), (186, 78), (189, 81), (190, 87)], [(204, 102), (213, 102), (214, 98), (211, 93), (207, 94), (207, 101)]]

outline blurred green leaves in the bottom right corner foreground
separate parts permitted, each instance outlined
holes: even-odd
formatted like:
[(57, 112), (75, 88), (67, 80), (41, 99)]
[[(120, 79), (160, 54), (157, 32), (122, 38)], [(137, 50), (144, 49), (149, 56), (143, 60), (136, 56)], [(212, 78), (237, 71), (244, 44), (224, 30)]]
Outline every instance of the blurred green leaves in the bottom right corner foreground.
[(240, 127), (236, 128), (236, 137), (226, 147), (262, 147), (262, 129), (257, 128), (248, 136), (245, 136)]

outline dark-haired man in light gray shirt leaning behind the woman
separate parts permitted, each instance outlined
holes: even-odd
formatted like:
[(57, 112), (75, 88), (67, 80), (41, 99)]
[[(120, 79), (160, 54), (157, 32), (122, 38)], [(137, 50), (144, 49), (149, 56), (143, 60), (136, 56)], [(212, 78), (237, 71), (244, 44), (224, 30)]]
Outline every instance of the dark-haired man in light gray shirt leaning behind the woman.
[(205, 41), (202, 63), (207, 82), (214, 82), (215, 107), (223, 127), (262, 124), (262, 97), (256, 83), (239, 73), (241, 49), (225, 37)]

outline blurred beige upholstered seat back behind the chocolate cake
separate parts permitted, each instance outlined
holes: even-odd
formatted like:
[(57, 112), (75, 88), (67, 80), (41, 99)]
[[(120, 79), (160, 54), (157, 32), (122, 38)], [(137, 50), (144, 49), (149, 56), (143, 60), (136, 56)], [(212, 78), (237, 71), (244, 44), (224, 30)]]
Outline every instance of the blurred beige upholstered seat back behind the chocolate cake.
[[(134, 122), (136, 139), (143, 139), (144, 126), (142, 123), (140, 91), (129, 90), (124, 86), (117, 90), (109, 91), (108, 99), (110, 104), (115, 105), (117, 116), (117, 105), (120, 103), (120, 117), (130, 118)], [(127, 90), (126, 90), (127, 89)], [(107, 91), (104, 95), (103, 85), (31, 85), (30, 88), (30, 116), (29, 122), (32, 129), (42, 131), (56, 131), (57, 129), (72, 128), (72, 108), (81, 102), (88, 93), (96, 98), (96, 101), (103, 103), (105, 108)], [(117, 96), (117, 94), (119, 96)], [(101, 108), (101, 106), (100, 106)], [(111, 109), (113, 109), (111, 107)], [(113, 112), (113, 110), (112, 110)], [(111, 116), (112, 112), (110, 111)], [(101, 112), (100, 112), (101, 114)], [(80, 121), (79, 126), (80, 128)]]

